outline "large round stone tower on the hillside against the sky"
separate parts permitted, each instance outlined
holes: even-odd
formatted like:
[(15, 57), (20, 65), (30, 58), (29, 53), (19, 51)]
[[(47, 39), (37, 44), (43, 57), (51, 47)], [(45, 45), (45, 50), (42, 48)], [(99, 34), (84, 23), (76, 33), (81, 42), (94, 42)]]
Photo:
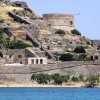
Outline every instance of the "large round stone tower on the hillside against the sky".
[(71, 14), (43, 14), (43, 19), (54, 29), (66, 31), (74, 29), (74, 16)]

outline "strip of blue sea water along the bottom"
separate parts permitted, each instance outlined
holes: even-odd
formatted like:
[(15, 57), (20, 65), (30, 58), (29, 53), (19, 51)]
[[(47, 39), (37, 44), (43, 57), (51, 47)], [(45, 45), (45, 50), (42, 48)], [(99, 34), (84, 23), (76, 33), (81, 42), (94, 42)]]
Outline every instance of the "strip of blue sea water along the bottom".
[(100, 88), (0, 88), (0, 100), (100, 100)]

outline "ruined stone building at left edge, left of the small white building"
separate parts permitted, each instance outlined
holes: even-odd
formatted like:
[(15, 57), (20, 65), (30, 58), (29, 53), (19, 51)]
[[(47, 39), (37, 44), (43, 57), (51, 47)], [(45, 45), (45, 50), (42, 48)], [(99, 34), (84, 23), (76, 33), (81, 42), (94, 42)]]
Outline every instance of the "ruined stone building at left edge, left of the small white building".
[(0, 57), (0, 64), (25, 64), (25, 50), (9, 49), (0, 50), (2, 56)]

